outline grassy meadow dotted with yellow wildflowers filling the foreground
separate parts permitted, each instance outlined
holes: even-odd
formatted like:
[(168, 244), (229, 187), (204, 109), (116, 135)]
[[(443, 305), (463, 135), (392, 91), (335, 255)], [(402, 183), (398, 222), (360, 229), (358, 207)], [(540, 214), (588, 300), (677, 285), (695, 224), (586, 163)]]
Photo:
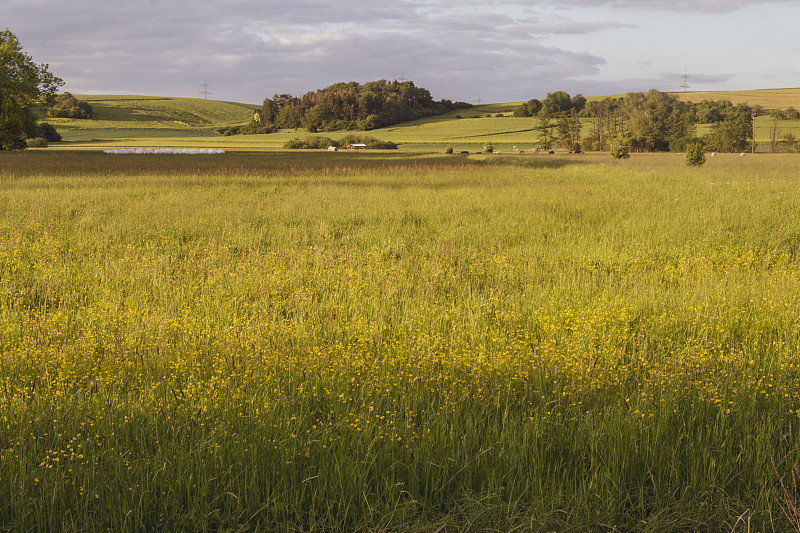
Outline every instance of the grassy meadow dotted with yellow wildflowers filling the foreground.
[(0, 154), (0, 531), (800, 531), (799, 169)]

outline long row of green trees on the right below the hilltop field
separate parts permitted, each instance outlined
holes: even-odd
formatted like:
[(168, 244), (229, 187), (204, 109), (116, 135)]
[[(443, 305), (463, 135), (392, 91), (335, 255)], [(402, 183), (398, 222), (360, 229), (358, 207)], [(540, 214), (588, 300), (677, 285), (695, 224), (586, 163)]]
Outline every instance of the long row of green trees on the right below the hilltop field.
[[(571, 97), (564, 91), (548, 93), (544, 100), (529, 100), (515, 116), (536, 117), (540, 146), (559, 146), (572, 151), (608, 151), (622, 143), (633, 152), (684, 151), (687, 144), (702, 141), (706, 149), (738, 152), (752, 142), (753, 119), (764, 110), (758, 106), (732, 104), (727, 100), (700, 103), (681, 102), (675, 96), (652, 89), (622, 97), (587, 101), (582, 95)], [(782, 118), (800, 115), (794, 109), (774, 112)], [(710, 124), (710, 131), (697, 138), (697, 125)], [(796, 150), (790, 134), (780, 135), (773, 128), (772, 147)]]

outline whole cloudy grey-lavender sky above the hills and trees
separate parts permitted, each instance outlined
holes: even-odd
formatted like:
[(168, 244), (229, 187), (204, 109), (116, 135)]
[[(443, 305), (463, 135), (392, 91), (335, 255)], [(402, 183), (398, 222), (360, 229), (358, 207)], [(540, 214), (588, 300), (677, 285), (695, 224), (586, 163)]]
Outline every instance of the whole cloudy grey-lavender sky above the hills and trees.
[(251, 104), (380, 79), (470, 103), (676, 91), (684, 81), (694, 91), (800, 87), (797, 21), (797, 0), (2, 0), (0, 8), (0, 29), (73, 94)]

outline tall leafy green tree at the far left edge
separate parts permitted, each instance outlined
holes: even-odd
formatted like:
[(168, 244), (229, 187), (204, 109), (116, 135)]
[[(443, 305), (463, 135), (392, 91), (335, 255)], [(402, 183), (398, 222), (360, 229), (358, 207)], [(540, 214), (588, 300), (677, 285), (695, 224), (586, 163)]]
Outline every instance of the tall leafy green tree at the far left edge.
[(22, 51), (16, 35), (0, 31), (0, 150), (25, 148), (39, 136), (34, 108), (51, 105), (63, 81)]

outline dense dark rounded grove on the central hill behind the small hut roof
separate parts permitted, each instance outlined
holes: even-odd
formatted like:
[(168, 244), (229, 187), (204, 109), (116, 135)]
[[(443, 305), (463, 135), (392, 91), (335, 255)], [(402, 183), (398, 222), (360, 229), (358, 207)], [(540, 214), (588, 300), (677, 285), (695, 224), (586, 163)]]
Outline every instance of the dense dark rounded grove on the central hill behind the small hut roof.
[(373, 130), (399, 122), (472, 107), (465, 102), (435, 101), (413, 81), (336, 83), (301, 97), (276, 94), (264, 100), (250, 124), (223, 133), (271, 133), (283, 128), (318, 131)]

